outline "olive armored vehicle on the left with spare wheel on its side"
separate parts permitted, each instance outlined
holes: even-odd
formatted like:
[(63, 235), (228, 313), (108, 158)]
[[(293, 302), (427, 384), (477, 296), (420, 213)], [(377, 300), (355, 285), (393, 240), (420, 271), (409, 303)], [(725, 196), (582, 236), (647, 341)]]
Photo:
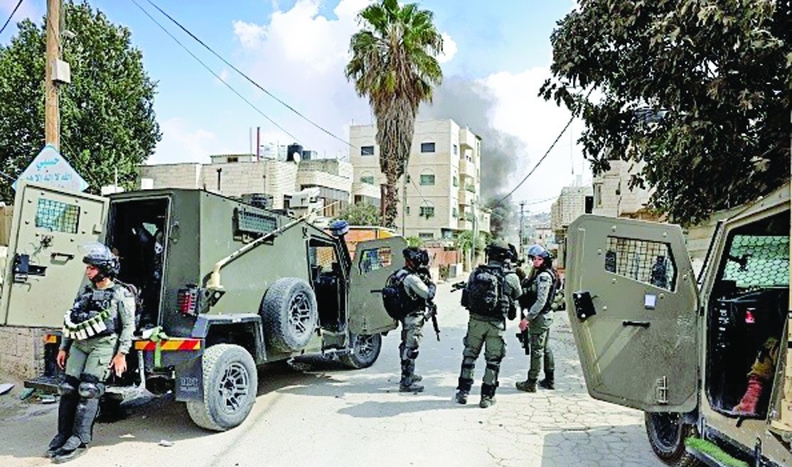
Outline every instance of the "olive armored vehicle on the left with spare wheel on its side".
[(32, 387), (57, 382), (57, 330), (91, 241), (117, 251), (118, 279), (139, 290), (128, 371), (107, 396), (170, 391), (210, 430), (245, 420), (257, 366), (307, 354), (371, 366), (396, 326), (371, 290), (401, 265), (401, 237), (362, 242), (352, 259), (343, 230), (186, 189), (102, 198), (23, 183), (13, 215), (0, 324), (53, 330)]

